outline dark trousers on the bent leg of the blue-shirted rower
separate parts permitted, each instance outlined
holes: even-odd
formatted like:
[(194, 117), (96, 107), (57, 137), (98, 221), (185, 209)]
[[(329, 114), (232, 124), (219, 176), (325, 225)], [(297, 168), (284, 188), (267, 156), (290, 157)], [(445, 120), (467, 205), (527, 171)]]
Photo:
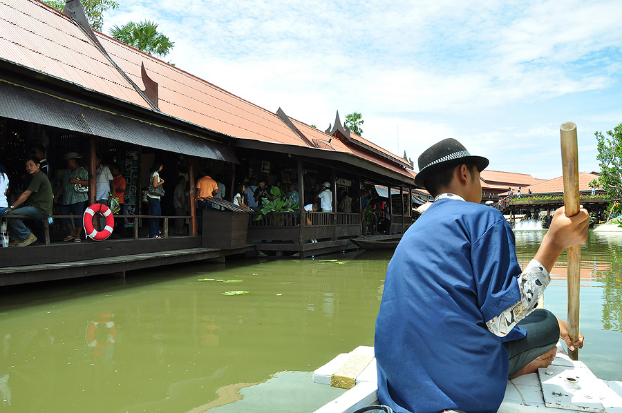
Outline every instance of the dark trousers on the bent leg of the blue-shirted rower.
[(503, 343), (509, 353), (508, 377), (555, 347), (559, 340), (559, 323), (551, 311), (535, 309), (518, 326), (527, 330), (527, 336)]

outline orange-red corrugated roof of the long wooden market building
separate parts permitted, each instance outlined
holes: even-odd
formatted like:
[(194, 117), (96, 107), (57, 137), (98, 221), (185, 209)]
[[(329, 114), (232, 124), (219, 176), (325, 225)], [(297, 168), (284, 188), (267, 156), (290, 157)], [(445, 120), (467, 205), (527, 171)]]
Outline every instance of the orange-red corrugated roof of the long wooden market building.
[[(144, 88), (141, 77), (141, 64), (144, 64), (147, 75), (158, 83), (158, 108), (162, 113), (238, 139), (310, 146), (275, 113), (156, 57), (94, 32), (115, 64), (139, 88)], [(39, 0), (0, 1), (0, 58), (144, 108), (151, 107), (73, 21)], [(389, 160), (347, 146), (338, 139), (332, 139), (331, 145), (325, 144), (329, 135), (302, 122), (295, 122), (310, 139), (323, 141), (320, 148), (334, 148), (402, 175), (414, 175), (390, 162), (404, 162), (402, 158), (354, 133), (352, 140), (374, 148)]]

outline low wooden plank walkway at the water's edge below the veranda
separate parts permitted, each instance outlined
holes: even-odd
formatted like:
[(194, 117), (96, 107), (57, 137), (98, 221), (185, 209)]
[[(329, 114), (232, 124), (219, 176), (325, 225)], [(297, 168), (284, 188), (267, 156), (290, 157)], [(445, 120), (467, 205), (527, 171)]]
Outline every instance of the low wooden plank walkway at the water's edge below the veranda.
[(222, 258), (226, 255), (244, 253), (245, 248), (223, 251), (211, 248), (187, 248), (151, 253), (136, 253), (114, 258), (93, 258), (71, 262), (58, 262), (39, 265), (21, 265), (0, 269), (0, 287), (6, 285), (25, 284), (62, 280), (101, 274), (125, 276), (125, 271), (162, 265), (178, 264), (198, 260)]

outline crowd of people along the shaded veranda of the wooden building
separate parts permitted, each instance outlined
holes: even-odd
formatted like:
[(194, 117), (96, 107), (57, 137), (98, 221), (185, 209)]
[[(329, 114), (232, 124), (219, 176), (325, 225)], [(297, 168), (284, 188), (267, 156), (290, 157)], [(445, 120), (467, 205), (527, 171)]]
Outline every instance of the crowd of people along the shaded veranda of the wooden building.
[[(30, 157), (25, 160), (26, 175), (21, 182), (10, 182), (9, 174), (0, 165), (0, 215), (26, 215), (28, 218), (6, 219), (10, 246), (25, 247), (44, 237), (42, 220), (52, 215), (53, 206), (57, 205), (59, 215), (73, 215), (70, 218), (60, 218), (63, 242), (82, 242), (86, 239), (83, 230), (83, 214), (88, 206), (88, 171), (82, 164), (80, 153), (70, 151), (64, 154), (66, 169), (62, 178), (57, 176), (58, 188), (53, 191), (50, 182), (50, 164), (46, 159), (44, 146), (32, 146)], [(95, 180), (97, 191), (95, 203), (106, 206), (117, 205), (115, 213), (126, 215), (125, 192), (126, 178), (122, 175), (122, 168), (116, 162), (106, 163), (102, 154), (95, 157)], [(189, 234), (190, 211), (190, 184), (187, 175), (180, 173), (176, 178), (176, 185), (172, 196), (164, 192), (164, 178), (162, 169), (165, 165), (160, 160), (153, 162), (149, 171), (148, 184), (142, 189), (144, 202), (143, 214), (149, 215), (149, 238), (162, 238), (160, 224), (162, 209), (170, 209), (180, 217), (175, 220), (175, 235)], [(13, 171), (15, 173), (18, 171)], [(171, 175), (167, 175), (171, 179)], [(300, 202), (303, 202), (305, 211), (332, 213), (333, 205), (336, 212), (359, 213), (364, 227), (364, 233), (382, 233), (390, 226), (390, 212), (388, 202), (380, 198), (373, 189), (362, 190), (340, 186), (337, 191), (328, 182), (322, 182), (314, 176), (305, 176), (305, 191), (299, 193), (298, 184), (284, 180), (276, 182), (276, 175), (260, 175), (246, 177), (235, 186), (232, 194), (227, 194), (225, 178), (221, 174), (212, 177), (209, 169), (198, 173), (195, 182), (195, 205), (198, 232), (202, 232), (202, 212), (209, 209), (224, 209), (215, 199), (230, 200), (247, 211), (260, 211), (265, 202), (272, 202), (276, 198), (289, 200), (292, 210), (296, 211)], [(167, 186), (169, 188), (169, 186)], [(228, 196), (227, 196), (228, 195)], [(232, 196), (233, 195), (233, 196)], [(337, 197), (335, 202), (333, 198)], [(169, 198), (170, 197), (170, 198)], [(165, 204), (164, 204), (165, 203)], [(163, 208), (165, 207), (165, 208)], [(147, 209), (147, 211), (145, 211)], [(101, 215), (101, 214), (97, 214)], [(24, 223), (27, 220), (27, 223)], [(309, 215), (308, 224), (311, 223)], [(93, 223), (95, 230), (104, 229), (106, 223), (102, 216), (98, 216)], [(122, 236), (125, 222), (115, 219), (113, 237)]]

